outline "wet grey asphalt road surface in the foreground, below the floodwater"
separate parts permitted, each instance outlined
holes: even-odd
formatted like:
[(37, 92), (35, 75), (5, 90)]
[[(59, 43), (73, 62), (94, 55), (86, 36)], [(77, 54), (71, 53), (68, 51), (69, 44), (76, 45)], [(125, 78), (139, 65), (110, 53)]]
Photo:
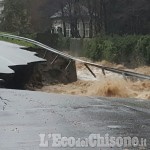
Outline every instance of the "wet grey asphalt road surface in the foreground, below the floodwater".
[(150, 101), (1, 89), (0, 111), (1, 150), (61, 149), (52, 148), (52, 139), (49, 147), (39, 147), (39, 134), (55, 133), (75, 138), (88, 138), (92, 133), (144, 138), (147, 139), (146, 149), (150, 149)]

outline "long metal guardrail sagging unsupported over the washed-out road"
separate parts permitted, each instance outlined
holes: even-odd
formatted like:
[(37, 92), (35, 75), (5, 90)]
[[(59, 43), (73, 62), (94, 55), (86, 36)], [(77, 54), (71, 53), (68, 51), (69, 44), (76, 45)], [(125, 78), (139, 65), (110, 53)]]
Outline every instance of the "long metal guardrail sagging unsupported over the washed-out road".
[[(123, 76), (127, 76), (127, 77), (136, 77), (136, 78), (139, 78), (139, 79), (147, 79), (147, 80), (150, 80), (150, 76), (149, 75), (144, 75), (144, 74), (140, 74), (140, 73), (135, 73), (135, 72), (131, 72), (131, 71), (125, 71), (125, 70), (121, 70), (121, 69), (116, 69), (116, 68), (112, 68), (112, 67), (104, 67), (102, 65), (98, 65), (96, 63), (91, 63), (91, 62), (88, 62), (88, 61), (83, 61), (81, 59), (78, 59), (76, 57), (73, 57), (71, 55), (68, 55), (68, 54), (65, 54), (63, 52), (60, 52), (56, 49), (53, 49), (47, 45), (44, 45), (38, 41), (35, 41), (35, 40), (32, 40), (32, 39), (29, 39), (29, 38), (25, 38), (25, 37), (20, 37), (20, 36), (16, 36), (16, 35), (11, 35), (11, 34), (0, 34), (0, 37), (5, 37), (5, 38), (11, 38), (11, 39), (16, 39), (16, 40), (21, 40), (21, 41), (25, 41), (25, 42), (28, 42), (28, 43), (31, 43), (31, 44), (34, 44), (36, 46), (39, 46), (43, 49), (46, 49), (48, 51), (51, 51), (57, 55), (60, 55), (64, 58), (67, 58), (68, 60), (73, 60), (73, 61), (78, 61), (78, 62), (81, 62), (83, 63), (86, 68), (91, 72), (91, 74), (96, 78), (96, 75), (94, 74), (94, 72), (90, 69), (89, 66), (94, 66), (94, 67), (97, 67), (97, 68), (100, 68), (102, 69), (102, 72), (103, 74), (105, 75), (105, 70), (106, 71), (110, 71), (110, 72), (113, 72), (113, 73), (117, 73), (117, 74), (121, 74)], [(56, 56), (58, 57), (58, 56)], [(57, 58), (56, 58), (57, 59)], [(55, 60), (54, 60), (55, 61)]]

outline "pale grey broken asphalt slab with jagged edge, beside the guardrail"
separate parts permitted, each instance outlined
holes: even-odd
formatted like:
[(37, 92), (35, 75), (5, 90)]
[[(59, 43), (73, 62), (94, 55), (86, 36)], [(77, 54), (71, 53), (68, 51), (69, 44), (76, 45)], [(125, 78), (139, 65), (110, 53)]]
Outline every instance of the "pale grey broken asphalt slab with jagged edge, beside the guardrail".
[(0, 41), (0, 73), (12, 74), (14, 73), (14, 70), (10, 68), (12, 66), (45, 61), (35, 54), (35, 52), (22, 50), (19, 45)]

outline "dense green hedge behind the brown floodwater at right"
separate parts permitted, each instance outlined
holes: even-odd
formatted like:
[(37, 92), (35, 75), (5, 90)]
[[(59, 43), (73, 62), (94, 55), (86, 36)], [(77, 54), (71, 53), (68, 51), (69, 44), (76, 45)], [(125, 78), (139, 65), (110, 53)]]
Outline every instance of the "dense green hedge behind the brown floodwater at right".
[(94, 61), (105, 59), (127, 65), (150, 64), (149, 35), (93, 38), (86, 41), (86, 49), (86, 56)]

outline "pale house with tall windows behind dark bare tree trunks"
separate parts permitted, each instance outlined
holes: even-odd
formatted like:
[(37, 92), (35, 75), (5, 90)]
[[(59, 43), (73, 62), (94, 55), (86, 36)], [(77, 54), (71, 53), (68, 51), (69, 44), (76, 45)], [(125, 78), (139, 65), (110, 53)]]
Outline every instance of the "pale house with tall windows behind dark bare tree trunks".
[[(65, 26), (66, 26), (66, 36), (71, 37), (71, 25), (69, 22), (69, 16), (68, 16), (68, 8), (67, 6), (64, 7), (64, 17), (65, 17)], [(77, 28), (80, 37), (84, 36), (85, 38), (89, 37), (89, 17), (88, 17), (88, 9), (85, 6), (82, 6), (82, 15), (84, 17), (84, 26), (83, 26), (83, 20), (78, 19)], [(63, 27), (63, 19), (62, 19), (62, 11), (56, 12), (53, 16), (50, 17), (52, 21), (52, 28), (54, 33), (58, 33), (60, 30), (62, 34), (64, 34), (64, 27)], [(85, 30), (85, 31), (84, 31)]]

